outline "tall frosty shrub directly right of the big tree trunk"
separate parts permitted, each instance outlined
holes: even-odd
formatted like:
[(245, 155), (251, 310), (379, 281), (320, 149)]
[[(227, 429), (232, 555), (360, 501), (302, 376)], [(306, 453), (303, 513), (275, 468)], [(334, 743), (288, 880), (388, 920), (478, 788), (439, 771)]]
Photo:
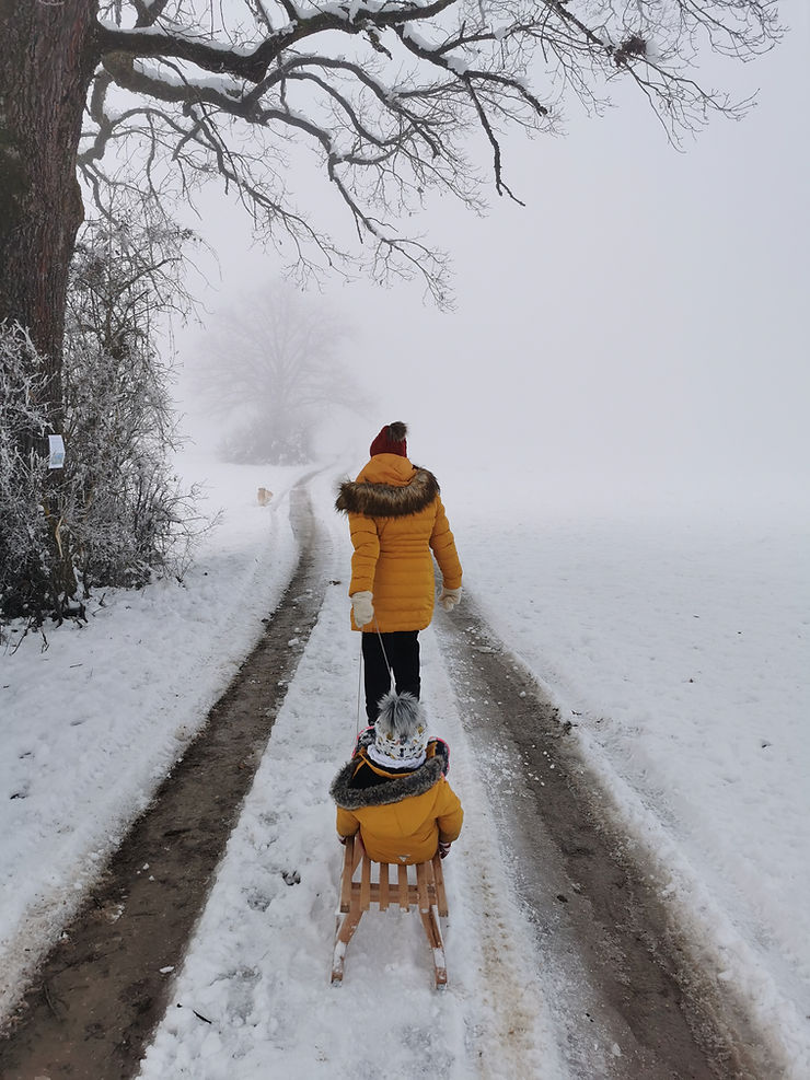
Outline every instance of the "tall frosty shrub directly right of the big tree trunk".
[(155, 314), (176, 306), (187, 232), (163, 220), (85, 227), (71, 270), (65, 347), (66, 442), (76, 565), (92, 585), (182, 576), (197, 532), (177, 449), (171, 367)]

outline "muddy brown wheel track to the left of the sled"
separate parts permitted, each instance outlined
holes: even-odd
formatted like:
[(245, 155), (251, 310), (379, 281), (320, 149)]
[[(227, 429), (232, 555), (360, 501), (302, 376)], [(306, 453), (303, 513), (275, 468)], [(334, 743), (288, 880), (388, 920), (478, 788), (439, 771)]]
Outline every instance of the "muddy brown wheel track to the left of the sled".
[(43, 963), (0, 1040), (3, 1080), (137, 1072), (323, 603), (306, 479), (290, 496), (301, 557), (277, 611)]

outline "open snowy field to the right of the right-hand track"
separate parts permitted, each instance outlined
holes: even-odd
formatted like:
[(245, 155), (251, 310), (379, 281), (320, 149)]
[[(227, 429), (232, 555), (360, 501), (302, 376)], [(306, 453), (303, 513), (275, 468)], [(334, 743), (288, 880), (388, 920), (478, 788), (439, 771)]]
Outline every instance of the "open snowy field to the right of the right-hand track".
[(493, 472), (474, 492), (444, 471), (442, 491), (476, 602), (577, 725), (708, 969), (810, 1076), (806, 489)]

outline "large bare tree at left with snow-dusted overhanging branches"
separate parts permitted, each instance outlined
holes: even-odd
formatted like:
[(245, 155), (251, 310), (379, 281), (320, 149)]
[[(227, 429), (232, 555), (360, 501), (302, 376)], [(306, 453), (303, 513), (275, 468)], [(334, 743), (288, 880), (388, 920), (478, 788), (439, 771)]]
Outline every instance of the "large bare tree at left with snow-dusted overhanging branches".
[[(371, 271), (421, 274), (441, 302), (442, 257), (398, 221), (431, 189), (479, 206), (471, 132), (512, 197), (509, 127), (551, 130), (566, 94), (599, 106), (624, 79), (676, 138), (739, 115), (696, 81), (698, 54), (747, 60), (778, 34), (774, 0), (0, 0), (0, 322), (44, 357), (61, 431), (77, 172), (96, 195), (218, 178), (291, 263), (332, 269), (352, 253), (296, 205), (301, 150)], [(39, 445), (35, 427), (25, 440)], [(46, 511), (53, 498), (51, 481)]]

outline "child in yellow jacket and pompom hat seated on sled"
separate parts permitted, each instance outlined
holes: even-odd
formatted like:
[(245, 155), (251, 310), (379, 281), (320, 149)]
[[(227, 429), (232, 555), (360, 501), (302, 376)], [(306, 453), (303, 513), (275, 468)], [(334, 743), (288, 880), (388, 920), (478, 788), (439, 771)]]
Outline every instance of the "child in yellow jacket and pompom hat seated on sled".
[(340, 841), (359, 832), (375, 862), (427, 862), (437, 850), (444, 858), (464, 818), (447, 768), (447, 743), (428, 738), (419, 701), (386, 694), (329, 789)]

